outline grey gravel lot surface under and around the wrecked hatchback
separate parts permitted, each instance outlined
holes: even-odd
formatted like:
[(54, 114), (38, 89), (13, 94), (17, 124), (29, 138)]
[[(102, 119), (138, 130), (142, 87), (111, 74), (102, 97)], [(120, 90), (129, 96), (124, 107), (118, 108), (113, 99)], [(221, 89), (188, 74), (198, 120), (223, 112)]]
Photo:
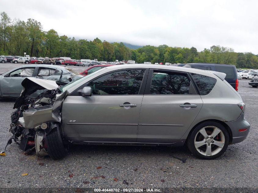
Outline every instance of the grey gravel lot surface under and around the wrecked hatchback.
[[(22, 64), (0, 64), (0, 73)], [(87, 67), (69, 66), (81, 72)], [(24, 155), (19, 146), (8, 146), (0, 156), (2, 188), (257, 188), (258, 187), (258, 88), (239, 80), (251, 128), (245, 141), (230, 145), (218, 159), (201, 160), (187, 147), (71, 146), (62, 160)], [(0, 99), (0, 149), (9, 133), (13, 99)], [(157, 115), (158, 116), (158, 115)], [(173, 116), (173, 112), (171, 112)], [(28, 173), (26, 176), (21, 174)], [(116, 178), (116, 180), (114, 180)], [(125, 180), (125, 181), (124, 181)]]

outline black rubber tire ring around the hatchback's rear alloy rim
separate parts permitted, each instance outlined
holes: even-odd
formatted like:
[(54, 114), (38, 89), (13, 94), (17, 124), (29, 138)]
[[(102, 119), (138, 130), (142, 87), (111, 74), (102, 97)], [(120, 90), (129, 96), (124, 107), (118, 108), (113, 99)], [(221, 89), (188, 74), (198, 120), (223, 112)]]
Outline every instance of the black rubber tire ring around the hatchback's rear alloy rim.
[[(223, 132), (223, 134), (225, 136), (225, 144), (224, 144), (223, 148), (220, 150), (220, 152), (217, 153), (216, 155), (211, 155), (211, 156), (202, 155), (197, 151), (197, 149), (194, 146), (195, 135), (198, 133), (199, 130), (201, 130), (203, 127), (206, 127), (206, 126), (218, 127)], [(215, 158), (219, 157), (220, 155), (222, 155), (227, 150), (228, 145), (229, 145), (229, 134), (228, 134), (227, 129), (222, 124), (217, 123), (217, 122), (213, 122), (213, 121), (207, 121), (207, 122), (199, 124), (197, 127), (194, 128), (194, 130), (191, 132), (191, 134), (190, 134), (190, 136), (187, 140), (187, 146), (188, 146), (189, 150), (195, 156), (197, 156), (201, 159), (215, 159)]]

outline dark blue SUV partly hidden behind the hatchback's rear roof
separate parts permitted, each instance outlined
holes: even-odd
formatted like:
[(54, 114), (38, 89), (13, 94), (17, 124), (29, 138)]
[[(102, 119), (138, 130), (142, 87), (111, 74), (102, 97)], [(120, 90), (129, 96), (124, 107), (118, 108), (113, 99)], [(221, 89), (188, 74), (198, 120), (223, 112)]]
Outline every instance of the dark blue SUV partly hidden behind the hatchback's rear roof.
[[(184, 66), (186, 64), (178, 64), (177, 66)], [(191, 68), (200, 70), (212, 70), (223, 72), (226, 74), (225, 80), (237, 91), (238, 90), (238, 76), (235, 65), (231, 64), (212, 64), (212, 63), (189, 63)]]

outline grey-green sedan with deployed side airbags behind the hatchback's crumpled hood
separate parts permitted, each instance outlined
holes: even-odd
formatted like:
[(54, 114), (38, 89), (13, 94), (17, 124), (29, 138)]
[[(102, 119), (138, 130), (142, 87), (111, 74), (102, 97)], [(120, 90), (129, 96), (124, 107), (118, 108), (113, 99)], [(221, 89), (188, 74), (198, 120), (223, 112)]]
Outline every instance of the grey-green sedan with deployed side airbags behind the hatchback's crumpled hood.
[[(0, 75), (0, 98), (17, 98), (22, 91), (21, 82), (26, 77), (69, 83), (82, 76), (73, 70), (53, 65), (23, 65)], [(42, 91), (41, 91), (42, 92)], [(37, 96), (39, 93), (36, 93)]]

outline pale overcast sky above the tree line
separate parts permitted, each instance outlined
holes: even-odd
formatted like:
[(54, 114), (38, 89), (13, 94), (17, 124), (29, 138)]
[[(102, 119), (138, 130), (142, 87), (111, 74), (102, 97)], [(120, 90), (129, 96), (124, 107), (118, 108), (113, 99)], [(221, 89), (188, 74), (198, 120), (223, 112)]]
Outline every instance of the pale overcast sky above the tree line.
[(255, 0), (2, 0), (0, 12), (76, 39), (258, 54), (257, 8)]

